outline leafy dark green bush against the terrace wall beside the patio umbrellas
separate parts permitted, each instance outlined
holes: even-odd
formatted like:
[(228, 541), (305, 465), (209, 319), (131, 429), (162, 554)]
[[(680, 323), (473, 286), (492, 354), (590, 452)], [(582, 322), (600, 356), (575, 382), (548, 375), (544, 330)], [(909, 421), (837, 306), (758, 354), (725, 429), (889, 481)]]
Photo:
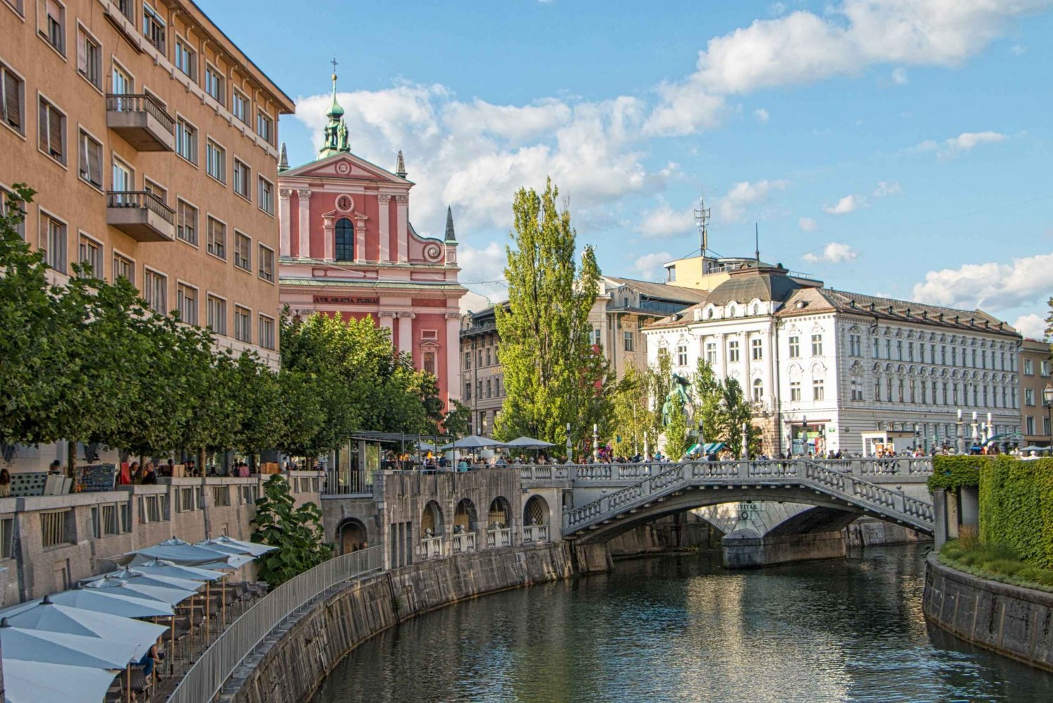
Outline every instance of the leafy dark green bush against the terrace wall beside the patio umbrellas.
[(258, 560), (260, 578), (272, 588), (333, 554), (333, 546), (324, 542), (321, 508), (311, 502), (297, 508), (289, 482), (278, 474), (263, 484), (263, 495), (256, 500), (253, 522), (256, 524), (253, 542), (277, 547)]

